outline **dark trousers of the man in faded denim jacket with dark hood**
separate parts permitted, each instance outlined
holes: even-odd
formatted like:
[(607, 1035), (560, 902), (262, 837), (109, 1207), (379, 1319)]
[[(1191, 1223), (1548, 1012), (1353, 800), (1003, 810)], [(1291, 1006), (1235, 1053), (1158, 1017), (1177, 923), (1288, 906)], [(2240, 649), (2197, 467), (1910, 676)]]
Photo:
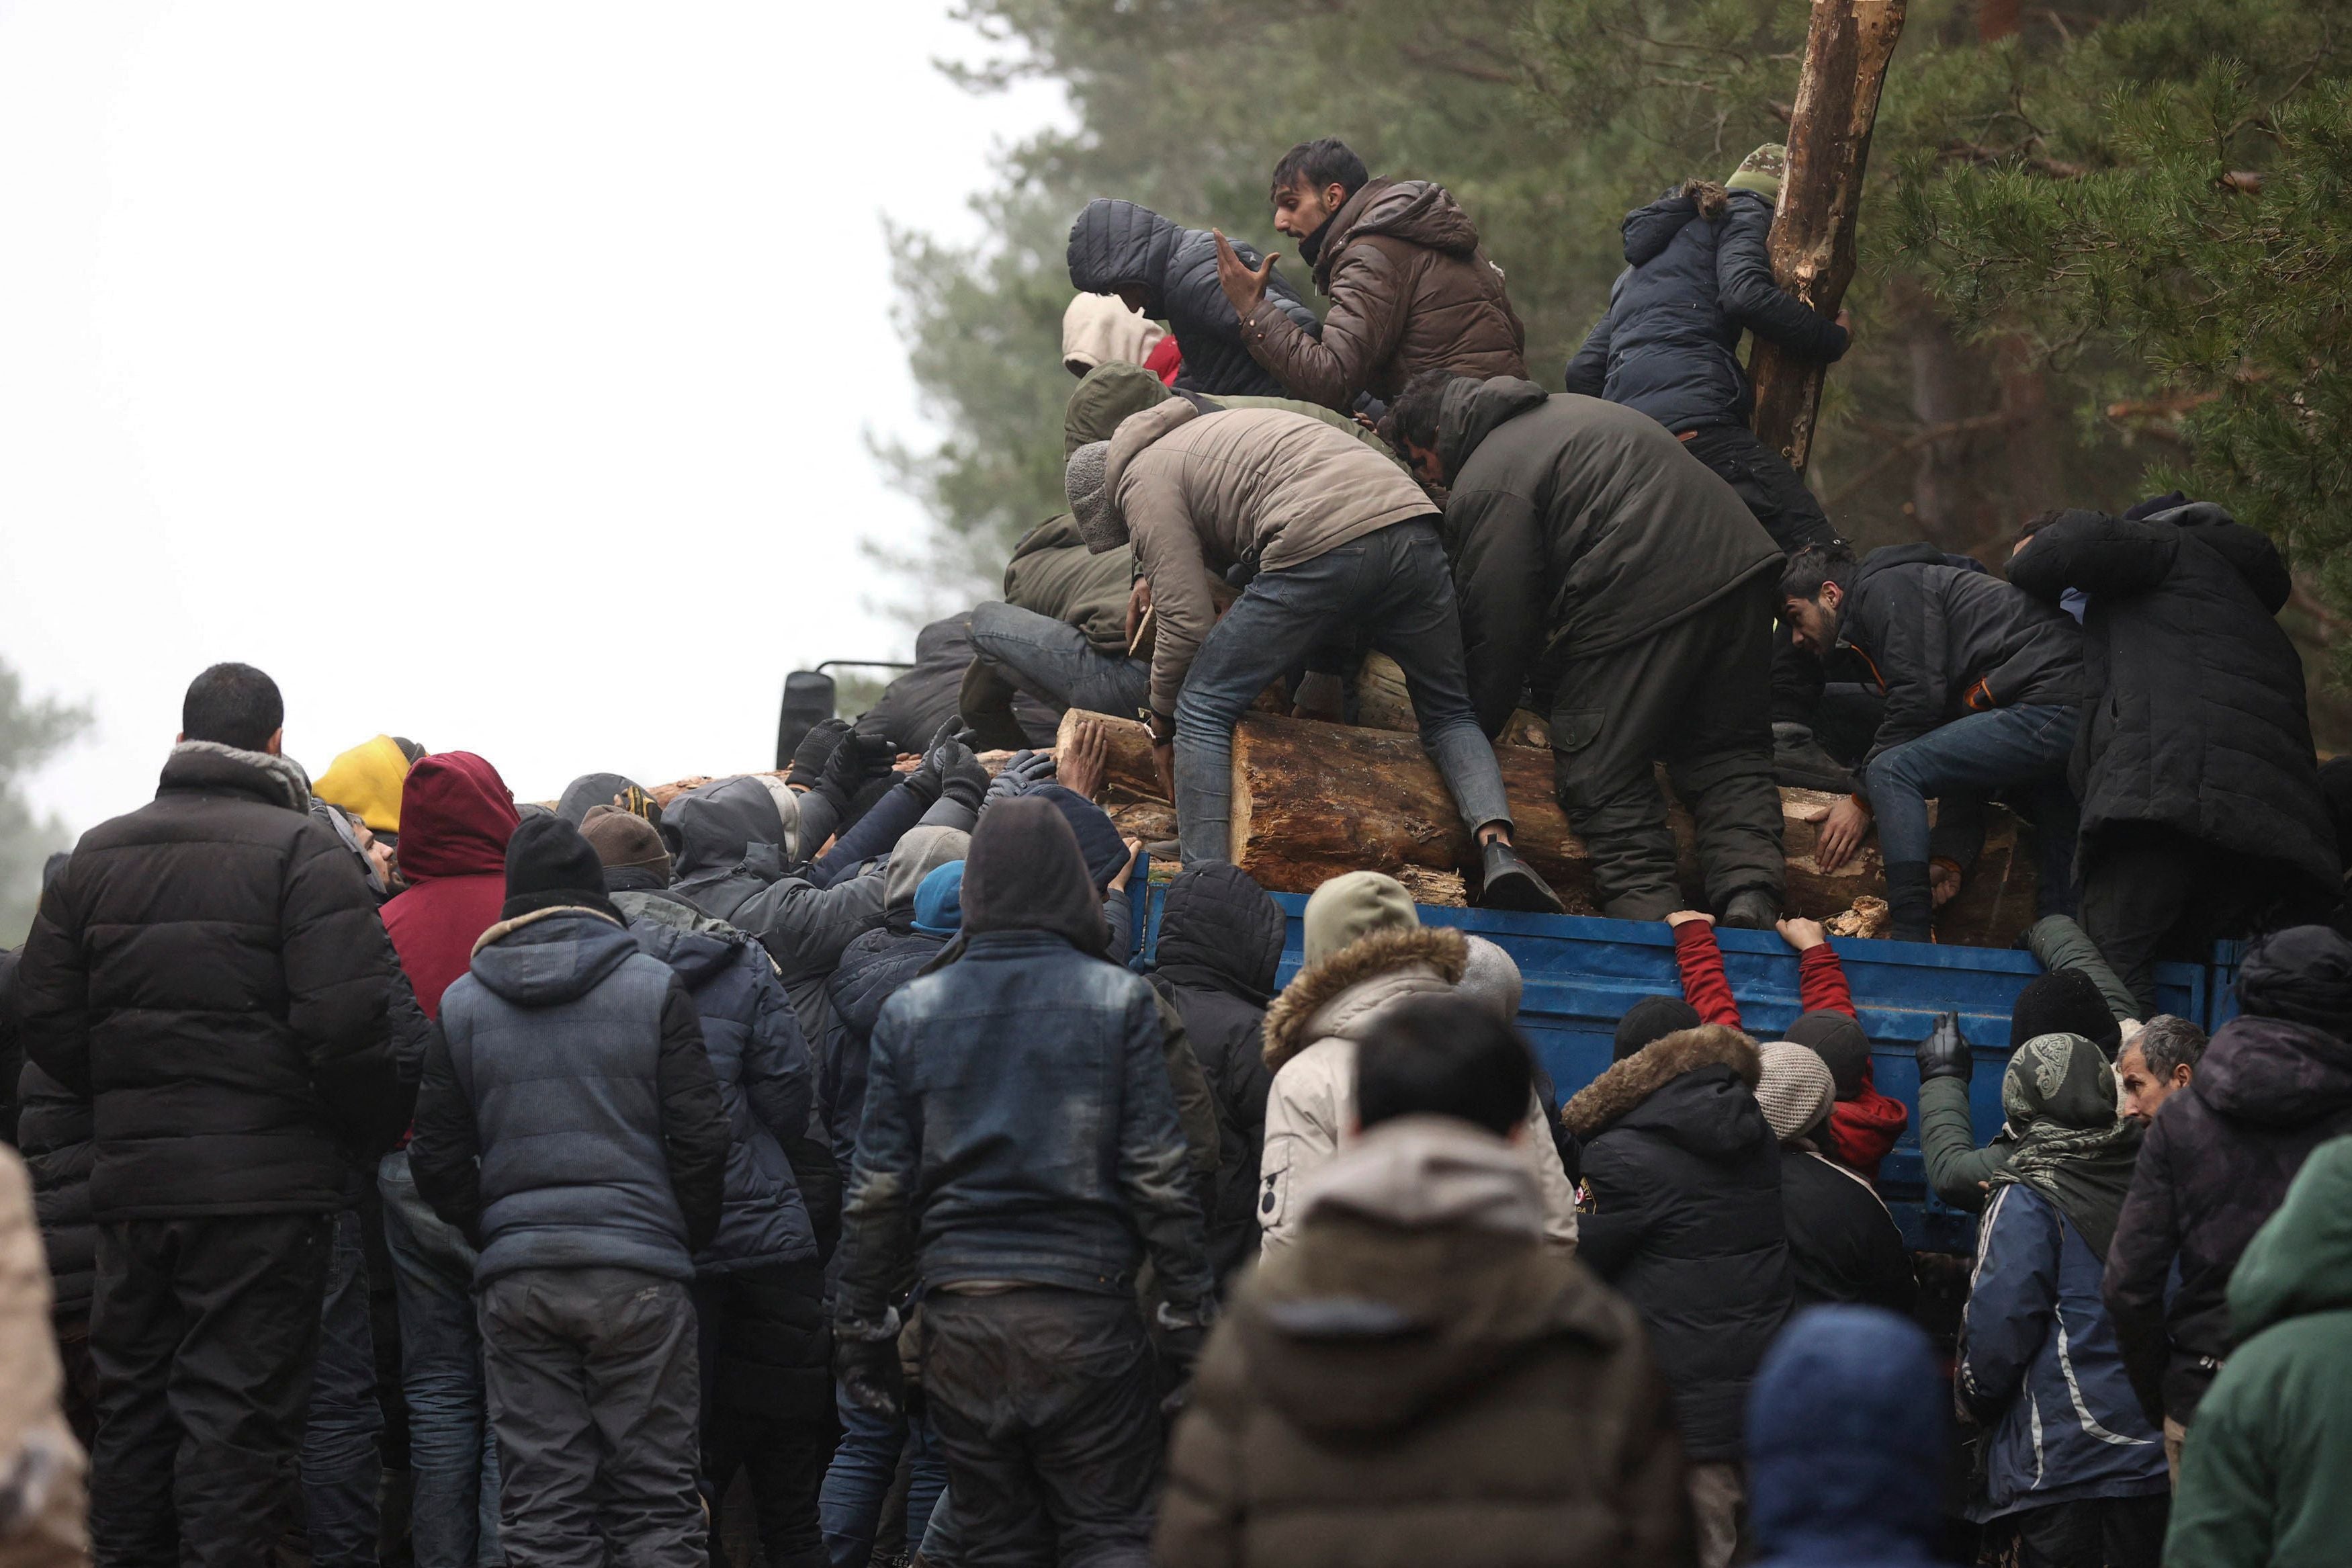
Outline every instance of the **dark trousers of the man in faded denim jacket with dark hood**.
[(1134, 1298), (943, 1291), (922, 1312), (962, 1568), (1150, 1563), (1160, 1399)]

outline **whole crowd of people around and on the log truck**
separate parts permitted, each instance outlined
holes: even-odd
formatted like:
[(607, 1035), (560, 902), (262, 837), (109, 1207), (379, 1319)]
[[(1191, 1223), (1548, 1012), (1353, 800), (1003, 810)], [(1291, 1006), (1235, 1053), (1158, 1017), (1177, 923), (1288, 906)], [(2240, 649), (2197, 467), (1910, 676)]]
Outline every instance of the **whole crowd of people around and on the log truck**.
[[(1270, 193), (1319, 320), (1091, 202), (1070, 512), (776, 773), (534, 804), (376, 736), (313, 783), (202, 670), (0, 969), (0, 1563), (2336, 1561), (2345, 783), (2286, 569), (2183, 496), (1856, 559), (1748, 430), (1745, 331), (1846, 346), (1771, 282), (1780, 167), (1628, 216), (1562, 395), (1454, 197), (1336, 141)], [(1531, 708), (1604, 912), (1670, 929), (1592, 1081), (1378, 870), (1277, 983), (1232, 729), (1345, 722), (1367, 649), (1482, 903), (1562, 907), (1491, 748)], [(1150, 724), (1157, 919), (1070, 708)], [(1825, 865), (1877, 830), (1900, 938), (1985, 802), (2039, 842), (2009, 1039), (1915, 1048), (1957, 1288), (1780, 783), (1844, 792)], [(1717, 926), (1790, 947), (1778, 1039)], [(2216, 936), (2206, 1039), (2154, 964)]]

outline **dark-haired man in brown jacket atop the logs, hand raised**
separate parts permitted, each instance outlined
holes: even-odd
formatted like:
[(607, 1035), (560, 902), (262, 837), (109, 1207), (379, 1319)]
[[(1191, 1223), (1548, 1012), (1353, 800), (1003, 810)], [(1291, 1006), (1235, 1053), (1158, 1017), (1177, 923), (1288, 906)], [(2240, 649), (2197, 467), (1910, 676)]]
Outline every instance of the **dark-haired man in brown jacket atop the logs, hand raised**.
[(1322, 341), (1265, 296), (1275, 256), (1251, 270), (1218, 235), (1216, 280), (1242, 317), (1242, 343), (1294, 397), (1352, 409), (1395, 397), (1416, 371), (1526, 376), (1526, 327), (1477, 226), (1423, 179), (1371, 179), (1348, 143), (1324, 136), (1282, 155), (1275, 228), (1298, 240), (1331, 299)]

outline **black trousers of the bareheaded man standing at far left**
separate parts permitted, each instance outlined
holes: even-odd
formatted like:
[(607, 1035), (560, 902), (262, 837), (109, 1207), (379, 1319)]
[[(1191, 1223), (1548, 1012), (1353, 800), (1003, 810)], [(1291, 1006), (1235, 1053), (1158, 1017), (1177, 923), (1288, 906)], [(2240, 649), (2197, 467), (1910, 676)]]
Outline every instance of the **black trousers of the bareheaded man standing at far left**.
[(99, 1225), (99, 1563), (242, 1568), (292, 1523), (332, 1227), (322, 1213)]

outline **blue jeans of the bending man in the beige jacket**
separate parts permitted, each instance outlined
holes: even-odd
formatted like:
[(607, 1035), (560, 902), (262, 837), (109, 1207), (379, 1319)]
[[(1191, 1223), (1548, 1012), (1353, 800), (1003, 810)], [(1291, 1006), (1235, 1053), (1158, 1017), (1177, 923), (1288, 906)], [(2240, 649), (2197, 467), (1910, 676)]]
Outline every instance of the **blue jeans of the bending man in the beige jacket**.
[(1510, 825), (1503, 769), (1470, 708), (1454, 576), (1428, 520), (1392, 522), (1315, 559), (1261, 571), (1218, 621), (1176, 698), (1176, 823), (1185, 865), (1232, 858), (1232, 726), (1268, 682), (1338, 632), (1371, 632), (1404, 670), (1421, 748), (1472, 832)]

